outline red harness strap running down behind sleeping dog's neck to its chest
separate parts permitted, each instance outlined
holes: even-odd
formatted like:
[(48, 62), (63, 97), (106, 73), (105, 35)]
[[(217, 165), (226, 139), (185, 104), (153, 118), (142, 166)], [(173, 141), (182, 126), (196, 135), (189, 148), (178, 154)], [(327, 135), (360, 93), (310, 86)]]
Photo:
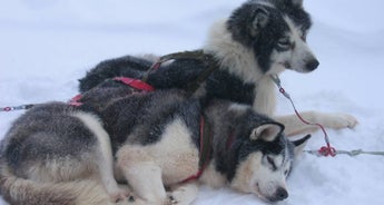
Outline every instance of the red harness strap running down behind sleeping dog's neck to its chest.
[(199, 150), (199, 169), (195, 175), (181, 180), (179, 184), (189, 183), (200, 178), (205, 168), (208, 166), (210, 160), (210, 148), (211, 148), (211, 127), (209, 123), (205, 121), (204, 116), (200, 117), (200, 150)]

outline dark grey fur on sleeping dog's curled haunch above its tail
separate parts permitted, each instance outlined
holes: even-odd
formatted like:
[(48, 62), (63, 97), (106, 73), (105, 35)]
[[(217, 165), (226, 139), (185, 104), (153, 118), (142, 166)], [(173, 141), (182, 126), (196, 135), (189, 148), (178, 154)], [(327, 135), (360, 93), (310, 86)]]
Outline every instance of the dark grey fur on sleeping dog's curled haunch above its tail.
[[(62, 102), (39, 105), (18, 118), (2, 141), (2, 156), (19, 176), (26, 162), (47, 162), (91, 152), (96, 136), (71, 116), (78, 108)], [(58, 146), (59, 145), (59, 146)], [(73, 147), (79, 145), (80, 147)], [(53, 158), (52, 158), (53, 157)]]

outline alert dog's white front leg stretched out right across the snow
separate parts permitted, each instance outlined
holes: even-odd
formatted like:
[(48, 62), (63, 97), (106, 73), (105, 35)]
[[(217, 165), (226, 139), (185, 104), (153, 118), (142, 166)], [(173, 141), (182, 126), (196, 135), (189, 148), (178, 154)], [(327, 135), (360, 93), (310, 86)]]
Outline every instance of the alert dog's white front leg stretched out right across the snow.
[[(358, 124), (356, 118), (347, 114), (304, 111), (299, 115), (309, 123), (333, 129), (354, 128)], [(296, 115), (277, 116), (275, 119), (285, 126), (287, 136), (314, 133), (318, 129), (318, 126), (304, 124)]]

